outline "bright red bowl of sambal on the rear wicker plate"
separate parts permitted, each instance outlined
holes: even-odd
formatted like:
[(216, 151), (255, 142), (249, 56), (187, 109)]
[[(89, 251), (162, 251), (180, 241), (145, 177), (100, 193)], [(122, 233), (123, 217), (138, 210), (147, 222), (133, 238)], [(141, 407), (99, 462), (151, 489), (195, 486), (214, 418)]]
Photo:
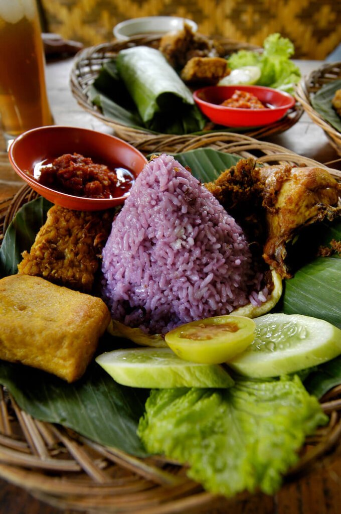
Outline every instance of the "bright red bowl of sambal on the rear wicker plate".
[[(269, 108), (240, 109), (220, 105), (231, 98), (236, 89), (252, 93)], [(295, 99), (288, 93), (263, 86), (208, 86), (195, 91), (193, 97), (207, 118), (217, 125), (230, 127), (268, 125), (282, 118), (295, 104)]]

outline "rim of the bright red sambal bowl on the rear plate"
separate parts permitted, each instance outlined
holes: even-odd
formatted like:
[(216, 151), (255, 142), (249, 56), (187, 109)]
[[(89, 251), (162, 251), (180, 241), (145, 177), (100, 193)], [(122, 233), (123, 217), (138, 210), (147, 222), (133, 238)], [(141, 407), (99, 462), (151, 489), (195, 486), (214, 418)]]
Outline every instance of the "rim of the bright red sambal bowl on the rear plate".
[[(199, 97), (199, 95), (201, 93), (204, 93), (204, 91), (213, 90), (213, 89), (216, 89), (217, 87), (225, 89), (225, 90), (228, 89), (229, 91), (231, 91), (231, 89), (234, 89), (234, 90), (241, 89), (243, 91), (249, 91), (250, 93), (252, 93), (252, 91), (257, 91), (257, 90), (258, 91), (259, 90), (271, 91), (271, 92), (276, 91), (277, 94), (288, 99), (288, 104), (280, 105), (277, 107), (272, 107), (270, 109), (271, 112), (281, 111), (283, 109), (290, 109), (290, 107), (292, 107), (296, 102), (295, 98), (292, 95), (290, 95), (289, 93), (286, 93), (286, 91), (281, 91), (280, 89), (275, 89), (273, 87), (256, 86), (256, 85), (251, 85), (251, 84), (250, 85), (246, 85), (246, 84), (245, 85), (243, 85), (243, 84), (233, 85), (233, 84), (231, 84), (231, 85), (226, 85), (226, 86), (205, 86), (205, 87), (201, 87), (200, 89), (197, 89), (196, 91), (194, 91), (193, 97), (198, 103), (202, 103), (207, 106), (213, 106), (214, 108), (219, 109), (219, 111), (233, 111), (233, 112), (241, 111), (241, 112), (245, 112), (245, 113), (264, 112), (263, 109), (247, 109), (247, 108), (241, 108), (241, 107), (229, 107), (228, 105), (219, 105), (219, 104), (215, 104), (212, 102), (207, 102), (206, 100), (203, 100), (202, 98)], [(257, 95), (255, 94), (255, 96), (257, 96)]]

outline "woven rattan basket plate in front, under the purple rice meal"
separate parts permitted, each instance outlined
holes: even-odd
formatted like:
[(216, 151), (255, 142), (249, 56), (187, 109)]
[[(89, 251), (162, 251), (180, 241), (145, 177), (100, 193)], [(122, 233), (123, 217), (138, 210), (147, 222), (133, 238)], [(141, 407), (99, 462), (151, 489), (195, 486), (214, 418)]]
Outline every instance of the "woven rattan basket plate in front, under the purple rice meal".
[[(260, 143), (248, 136), (212, 134), (205, 139), (186, 141), (182, 147), (181, 137), (178, 139), (175, 145), (180, 151), (206, 146), (242, 157), (256, 157), (264, 165), (316, 164), (281, 146)], [(167, 143), (159, 142), (154, 150), (163, 151), (163, 145)], [(341, 180), (341, 172), (330, 172)], [(3, 204), (2, 232), (18, 209), (36, 196), (25, 186)], [(329, 424), (307, 439), (298, 465), (285, 477), (287, 482), (316, 469), (341, 449), (341, 386), (323, 398), (322, 408), (329, 415)], [(86, 512), (171, 514), (208, 513), (212, 509), (232, 512), (240, 502), (245, 505), (252, 501), (247, 493), (227, 500), (205, 492), (186, 478), (185, 467), (161, 457), (139, 460), (93, 443), (64, 427), (33, 419), (16, 405), (6, 388), (0, 388), (0, 476), (51, 505)]]

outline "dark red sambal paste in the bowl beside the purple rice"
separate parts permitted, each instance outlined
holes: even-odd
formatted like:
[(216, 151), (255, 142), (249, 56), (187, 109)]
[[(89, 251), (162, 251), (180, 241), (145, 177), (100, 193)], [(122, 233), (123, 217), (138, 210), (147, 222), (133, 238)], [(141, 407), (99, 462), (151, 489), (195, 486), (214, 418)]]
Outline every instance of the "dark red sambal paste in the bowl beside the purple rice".
[[(120, 171), (120, 180), (117, 170)], [(51, 189), (87, 198), (121, 196), (134, 181), (128, 170), (110, 170), (105, 164), (96, 164), (90, 157), (77, 153), (64, 154), (50, 163), (41, 163), (39, 169), (34, 170), (34, 178)]]

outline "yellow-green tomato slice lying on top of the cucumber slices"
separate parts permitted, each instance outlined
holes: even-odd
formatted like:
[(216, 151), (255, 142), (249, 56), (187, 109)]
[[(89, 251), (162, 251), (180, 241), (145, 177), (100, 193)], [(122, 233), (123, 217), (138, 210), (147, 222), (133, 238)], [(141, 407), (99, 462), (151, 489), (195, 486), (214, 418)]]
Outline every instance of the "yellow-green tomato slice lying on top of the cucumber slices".
[(245, 350), (254, 333), (251, 318), (215, 316), (174, 328), (165, 335), (165, 341), (181, 359), (220, 364)]

